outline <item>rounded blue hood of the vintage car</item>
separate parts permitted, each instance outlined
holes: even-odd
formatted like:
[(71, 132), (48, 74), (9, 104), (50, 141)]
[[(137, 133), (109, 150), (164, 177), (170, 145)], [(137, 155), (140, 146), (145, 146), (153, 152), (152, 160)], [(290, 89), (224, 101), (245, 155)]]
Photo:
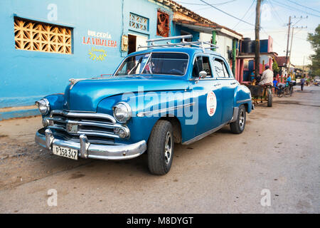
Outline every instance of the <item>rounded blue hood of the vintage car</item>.
[(188, 81), (178, 76), (123, 76), (85, 79), (70, 83), (65, 88), (63, 108), (73, 111), (96, 112), (98, 103), (112, 95), (135, 93), (138, 89), (149, 92), (185, 90), (187, 88)]

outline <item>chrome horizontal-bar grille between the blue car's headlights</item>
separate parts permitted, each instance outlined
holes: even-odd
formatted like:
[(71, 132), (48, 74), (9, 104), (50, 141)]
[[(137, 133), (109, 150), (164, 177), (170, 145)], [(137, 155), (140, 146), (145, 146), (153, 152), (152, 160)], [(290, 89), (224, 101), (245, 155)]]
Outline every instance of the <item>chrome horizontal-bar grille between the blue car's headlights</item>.
[[(110, 140), (113, 142), (119, 135), (114, 134), (114, 128), (122, 128), (112, 115), (104, 113), (75, 113), (64, 110), (53, 110), (50, 113), (48, 128), (55, 130), (68, 140), (79, 140), (79, 135), (87, 135), (90, 142)], [(68, 124), (78, 125), (76, 132), (67, 129)]]

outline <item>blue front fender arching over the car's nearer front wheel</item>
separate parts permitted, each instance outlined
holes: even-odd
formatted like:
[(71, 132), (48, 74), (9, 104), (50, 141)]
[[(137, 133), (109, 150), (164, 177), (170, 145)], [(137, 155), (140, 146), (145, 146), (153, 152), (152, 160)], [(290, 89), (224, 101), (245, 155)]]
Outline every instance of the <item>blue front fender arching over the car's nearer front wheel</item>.
[[(163, 118), (167, 113), (146, 114), (154, 110), (166, 109), (169, 107), (176, 107), (181, 104), (190, 103), (190, 98), (186, 95), (186, 91), (157, 91), (147, 93), (126, 93), (123, 95), (114, 95), (100, 101), (97, 107), (97, 113), (106, 113), (113, 116), (112, 107), (124, 101), (129, 103), (132, 108), (132, 118), (126, 123), (130, 130), (130, 138), (127, 140), (119, 140), (122, 143), (134, 143), (141, 140), (148, 140), (152, 128), (160, 118)], [(181, 123), (182, 138), (192, 138), (194, 132), (193, 125), (185, 125), (186, 118), (184, 117), (184, 110), (174, 110), (173, 114)], [(137, 114), (141, 115), (137, 115)], [(144, 113), (145, 115), (143, 115)], [(171, 116), (171, 115), (170, 115)]]

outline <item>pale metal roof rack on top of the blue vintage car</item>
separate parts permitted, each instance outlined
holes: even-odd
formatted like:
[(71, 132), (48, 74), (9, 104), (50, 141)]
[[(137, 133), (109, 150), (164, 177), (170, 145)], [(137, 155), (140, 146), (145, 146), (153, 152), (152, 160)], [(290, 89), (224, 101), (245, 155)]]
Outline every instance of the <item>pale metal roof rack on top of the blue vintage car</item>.
[[(190, 34), (190, 35), (184, 35), (184, 36), (169, 36), (165, 38), (153, 38), (153, 39), (146, 40), (146, 43), (148, 43), (147, 46), (139, 45), (138, 48), (169, 48), (169, 47), (183, 48), (183, 47), (189, 46), (189, 47), (202, 48), (203, 52), (205, 52), (206, 49), (218, 48), (218, 46), (206, 41), (200, 41), (200, 40), (191, 41), (191, 42), (185, 41), (186, 38), (192, 38), (192, 37), (193, 36)], [(154, 44), (154, 42), (172, 41), (177, 39), (181, 39), (182, 41), (180, 43), (166, 42), (164, 44)], [(210, 47), (205, 47), (204, 46), (205, 44), (209, 45)]]

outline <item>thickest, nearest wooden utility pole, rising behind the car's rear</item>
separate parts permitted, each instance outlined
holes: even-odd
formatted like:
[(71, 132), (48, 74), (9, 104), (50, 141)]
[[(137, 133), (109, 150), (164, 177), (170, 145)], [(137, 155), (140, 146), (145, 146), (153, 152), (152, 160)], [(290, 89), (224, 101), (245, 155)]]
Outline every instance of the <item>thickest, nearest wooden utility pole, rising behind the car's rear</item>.
[(255, 7), (255, 76), (260, 76), (260, 6), (261, 0), (257, 0)]

